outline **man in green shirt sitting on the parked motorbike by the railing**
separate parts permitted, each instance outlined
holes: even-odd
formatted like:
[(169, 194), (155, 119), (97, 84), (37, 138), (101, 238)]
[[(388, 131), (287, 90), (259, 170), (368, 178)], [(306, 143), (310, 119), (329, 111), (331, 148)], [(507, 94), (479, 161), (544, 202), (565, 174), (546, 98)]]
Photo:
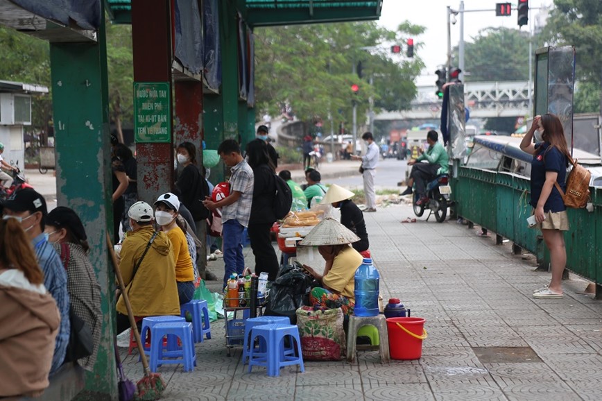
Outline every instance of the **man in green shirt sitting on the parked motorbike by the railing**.
[[(449, 156), (443, 145), (438, 141), (438, 133), (436, 130), (430, 130), (427, 133), (427, 143), (429, 148), (426, 153), (419, 150), (420, 156), (408, 162), (408, 166), (412, 166), (408, 187), (402, 192), (403, 195), (412, 194), (412, 186), (416, 185), (416, 193), (418, 201), (416, 205), (424, 205), (429, 201), (427, 198), (427, 182), (434, 180), (441, 174), (447, 174), (449, 171), (448, 162)], [(422, 163), (423, 160), (427, 162)]]

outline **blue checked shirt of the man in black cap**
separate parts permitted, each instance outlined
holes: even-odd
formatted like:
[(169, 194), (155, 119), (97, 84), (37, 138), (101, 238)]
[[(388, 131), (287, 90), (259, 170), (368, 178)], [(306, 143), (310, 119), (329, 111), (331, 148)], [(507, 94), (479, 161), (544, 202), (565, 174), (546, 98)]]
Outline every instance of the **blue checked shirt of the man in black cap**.
[(35, 248), (37, 264), (40, 264), (42, 273), (44, 273), (44, 287), (46, 287), (46, 290), (56, 301), (56, 306), (60, 313), (60, 329), (56, 335), (54, 355), (52, 356), (52, 366), (50, 368), (50, 373), (52, 374), (60, 368), (62, 361), (65, 359), (71, 330), (67, 272), (52, 245), (46, 241), (44, 234), (38, 235), (31, 242)]

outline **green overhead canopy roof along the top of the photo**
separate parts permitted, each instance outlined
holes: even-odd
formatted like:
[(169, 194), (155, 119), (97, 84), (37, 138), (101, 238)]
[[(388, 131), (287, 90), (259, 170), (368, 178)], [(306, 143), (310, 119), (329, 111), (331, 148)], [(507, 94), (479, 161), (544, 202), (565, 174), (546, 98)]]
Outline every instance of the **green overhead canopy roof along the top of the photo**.
[[(130, 0), (105, 0), (113, 22), (131, 24)], [(379, 19), (383, 0), (246, 0), (243, 18), (251, 27)]]

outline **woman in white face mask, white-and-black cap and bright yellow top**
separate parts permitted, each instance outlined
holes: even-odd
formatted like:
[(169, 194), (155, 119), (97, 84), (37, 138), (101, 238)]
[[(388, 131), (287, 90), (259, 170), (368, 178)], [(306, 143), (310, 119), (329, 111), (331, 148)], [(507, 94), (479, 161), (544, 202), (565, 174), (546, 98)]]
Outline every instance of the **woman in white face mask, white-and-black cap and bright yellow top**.
[(171, 241), (175, 261), (175, 281), (178, 284), (180, 305), (190, 302), (194, 295), (194, 266), (188, 250), (184, 230), (178, 225), (178, 196), (167, 192), (155, 202), (155, 221)]

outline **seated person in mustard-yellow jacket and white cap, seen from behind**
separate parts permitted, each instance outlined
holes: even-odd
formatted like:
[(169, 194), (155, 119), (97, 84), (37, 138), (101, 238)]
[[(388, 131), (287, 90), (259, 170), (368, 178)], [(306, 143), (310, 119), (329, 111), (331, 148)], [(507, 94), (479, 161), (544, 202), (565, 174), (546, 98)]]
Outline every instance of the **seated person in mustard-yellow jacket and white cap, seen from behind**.
[[(153, 228), (153, 208), (136, 202), (128, 210), (132, 233), (121, 245), (119, 269), (134, 316), (180, 316), (175, 258), (167, 234)], [(117, 300), (117, 333), (130, 327), (123, 296)]]

